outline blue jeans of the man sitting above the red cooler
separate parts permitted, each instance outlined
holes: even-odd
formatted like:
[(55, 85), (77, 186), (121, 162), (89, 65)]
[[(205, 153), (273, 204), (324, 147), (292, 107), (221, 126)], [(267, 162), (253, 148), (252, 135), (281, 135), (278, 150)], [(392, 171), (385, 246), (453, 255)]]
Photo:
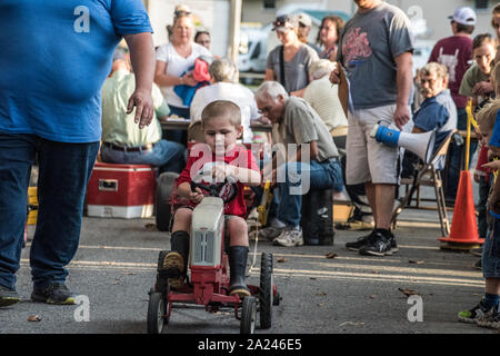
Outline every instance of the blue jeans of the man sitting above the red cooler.
[(180, 174), (186, 166), (186, 147), (172, 141), (159, 140), (150, 150), (124, 152), (102, 145), (101, 157), (104, 162), (123, 165), (151, 165), (163, 171)]

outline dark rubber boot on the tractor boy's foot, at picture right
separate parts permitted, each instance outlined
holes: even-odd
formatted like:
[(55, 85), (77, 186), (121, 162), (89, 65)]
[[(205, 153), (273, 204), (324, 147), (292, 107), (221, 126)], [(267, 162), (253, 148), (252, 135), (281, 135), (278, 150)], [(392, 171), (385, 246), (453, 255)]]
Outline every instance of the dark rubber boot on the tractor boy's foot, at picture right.
[(247, 271), (247, 246), (231, 246), (229, 247), (229, 295), (238, 295), (240, 299), (250, 296), (250, 289), (244, 281), (244, 274)]

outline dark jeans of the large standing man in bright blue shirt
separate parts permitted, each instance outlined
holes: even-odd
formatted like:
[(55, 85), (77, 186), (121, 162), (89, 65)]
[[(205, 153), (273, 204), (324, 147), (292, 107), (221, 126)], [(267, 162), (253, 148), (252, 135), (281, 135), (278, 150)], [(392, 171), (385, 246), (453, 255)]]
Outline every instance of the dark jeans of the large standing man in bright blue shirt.
[(33, 285), (64, 283), (77, 253), (87, 184), (99, 142), (64, 144), (0, 134), (0, 284), (14, 289), (27, 219), (31, 166), (38, 157), (39, 210), (30, 249)]

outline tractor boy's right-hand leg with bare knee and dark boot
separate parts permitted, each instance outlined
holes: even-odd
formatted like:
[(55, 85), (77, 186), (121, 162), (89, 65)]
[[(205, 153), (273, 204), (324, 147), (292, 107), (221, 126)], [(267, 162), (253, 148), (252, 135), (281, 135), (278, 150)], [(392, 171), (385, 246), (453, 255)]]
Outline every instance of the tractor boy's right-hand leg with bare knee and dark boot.
[(244, 298), (250, 295), (250, 290), (244, 281), (249, 245), (247, 221), (243, 218), (230, 216), (227, 217), (226, 224), (229, 234), (229, 294)]

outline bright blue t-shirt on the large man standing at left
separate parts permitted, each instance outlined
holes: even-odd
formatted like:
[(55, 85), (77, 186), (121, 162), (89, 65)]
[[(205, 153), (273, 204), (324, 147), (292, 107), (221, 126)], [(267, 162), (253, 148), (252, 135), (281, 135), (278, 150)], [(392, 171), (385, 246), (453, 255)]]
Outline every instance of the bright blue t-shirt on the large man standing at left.
[(1, 0), (0, 132), (101, 137), (101, 87), (123, 34), (152, 32), (141, 0)]

